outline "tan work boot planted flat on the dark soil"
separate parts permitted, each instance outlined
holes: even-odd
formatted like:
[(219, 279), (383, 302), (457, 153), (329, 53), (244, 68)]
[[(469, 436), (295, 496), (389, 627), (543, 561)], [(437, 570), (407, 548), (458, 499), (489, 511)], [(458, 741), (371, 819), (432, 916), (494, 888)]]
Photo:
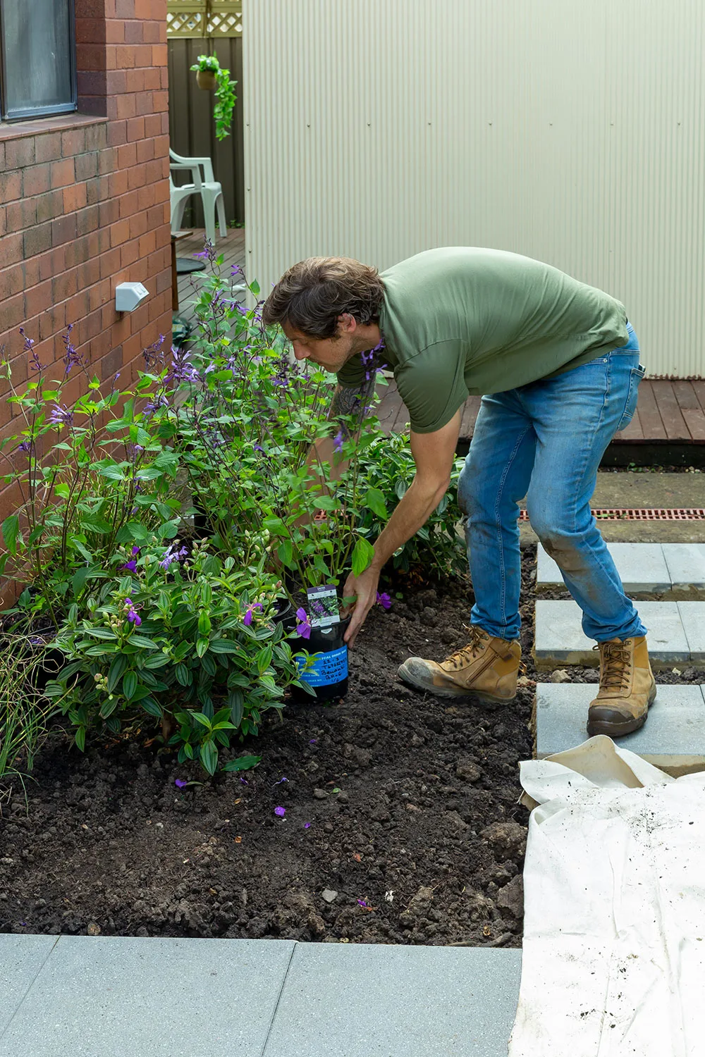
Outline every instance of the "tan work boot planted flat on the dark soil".
[(474, 694), (483, 701), (512, 701), (517, 696), (521, 645), (493, 638), (475, 625), (466, 630), (470, 642), (462, 650), (441, 664), (409, 657), (400, 666), (400, 679), (440, 698)]

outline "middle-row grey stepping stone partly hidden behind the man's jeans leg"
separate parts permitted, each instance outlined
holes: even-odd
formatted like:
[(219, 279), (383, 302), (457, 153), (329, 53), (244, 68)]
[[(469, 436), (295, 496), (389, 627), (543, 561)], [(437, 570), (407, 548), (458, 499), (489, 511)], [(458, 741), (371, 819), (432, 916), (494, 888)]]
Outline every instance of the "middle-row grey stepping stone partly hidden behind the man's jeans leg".
[[(641, 601), (639, 616), (648, 631), (652, 665), (669, 666), (690, 660), (690, 649), (683, 627), (683, 607), (700, 602)], [(534, 656), (538, 668), (559, 664), (597, 665), (595, 643), (582, 633), (582, 612), (577, 602), (537, 599)]]

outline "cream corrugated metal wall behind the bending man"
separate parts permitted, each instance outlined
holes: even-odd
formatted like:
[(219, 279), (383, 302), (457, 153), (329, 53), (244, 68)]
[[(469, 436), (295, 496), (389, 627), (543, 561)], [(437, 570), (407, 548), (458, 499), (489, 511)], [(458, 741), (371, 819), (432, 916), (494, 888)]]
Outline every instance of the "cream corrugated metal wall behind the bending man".
[(248, 276), (439, 245), (627, 305), (705, 375), (704, 0), (244, 0)]

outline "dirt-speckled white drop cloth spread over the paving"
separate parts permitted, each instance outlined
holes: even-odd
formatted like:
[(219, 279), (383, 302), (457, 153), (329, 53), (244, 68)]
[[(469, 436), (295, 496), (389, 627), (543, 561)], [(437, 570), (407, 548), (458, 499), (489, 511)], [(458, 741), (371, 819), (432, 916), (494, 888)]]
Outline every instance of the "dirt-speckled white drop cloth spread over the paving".
[(537, 806), (509, 1057), (705, 1057), (705, 774), (598, 737), (521, 783)]

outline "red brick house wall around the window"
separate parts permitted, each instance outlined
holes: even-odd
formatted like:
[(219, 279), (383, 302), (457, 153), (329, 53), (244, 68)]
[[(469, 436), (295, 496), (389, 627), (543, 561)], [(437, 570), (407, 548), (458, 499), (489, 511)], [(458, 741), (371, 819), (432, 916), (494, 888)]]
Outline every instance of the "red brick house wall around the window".
[[(171, 331), (166, 0), (76, 0), (76, 51), (77, 115), (0, 123), (0, 345), (16, 385), (20, 326), (58, 364), (72, 322), (91, 371), (120, 384)], [(124, 280), (150, 296), (119, 316)], [(3, 438), (19, 425), (5, 396)], [(0, 492), (0, 518), (12, 504)]]

